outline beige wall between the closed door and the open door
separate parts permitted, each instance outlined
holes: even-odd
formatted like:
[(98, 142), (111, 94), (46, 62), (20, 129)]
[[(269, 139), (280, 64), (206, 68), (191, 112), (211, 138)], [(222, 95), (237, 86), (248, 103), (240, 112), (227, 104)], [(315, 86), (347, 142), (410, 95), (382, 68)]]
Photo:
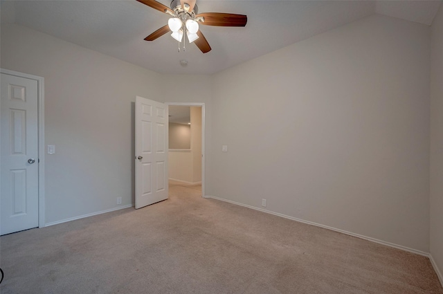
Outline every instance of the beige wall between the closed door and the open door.
[(161, 100), (161, 75), (8, 24), (0, 66), (44, 77), (46, 223), (133, 203), (134, 101)]

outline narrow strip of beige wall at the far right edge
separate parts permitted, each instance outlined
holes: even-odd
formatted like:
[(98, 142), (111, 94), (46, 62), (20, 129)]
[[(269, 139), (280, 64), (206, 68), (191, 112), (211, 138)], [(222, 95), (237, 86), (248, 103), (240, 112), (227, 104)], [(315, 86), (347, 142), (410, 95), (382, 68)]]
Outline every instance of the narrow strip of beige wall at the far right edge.
[(443, 284), (443, 4), (431, 32), (431, 255)]

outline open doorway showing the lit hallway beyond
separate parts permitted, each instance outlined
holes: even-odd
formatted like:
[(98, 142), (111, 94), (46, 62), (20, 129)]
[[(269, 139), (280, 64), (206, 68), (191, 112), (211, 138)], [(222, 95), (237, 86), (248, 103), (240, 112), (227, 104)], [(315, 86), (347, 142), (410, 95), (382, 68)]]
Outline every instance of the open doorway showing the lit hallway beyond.
[[(166, 103), (169, 109), (169, 180), (199, 188), (205, 195), (204, 103)], [(188, 115), (186, 114), (188, 113)]]

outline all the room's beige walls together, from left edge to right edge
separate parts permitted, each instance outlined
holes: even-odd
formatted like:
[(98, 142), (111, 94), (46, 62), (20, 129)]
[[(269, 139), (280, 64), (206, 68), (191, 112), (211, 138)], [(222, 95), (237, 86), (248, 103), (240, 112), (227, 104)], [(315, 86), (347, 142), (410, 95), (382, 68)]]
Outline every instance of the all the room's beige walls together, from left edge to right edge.
[[(440, 268), (441, 15), (431, 86)], [(48, 223), (115, 208), (116, 196), (132, 203), (141, 95), (205, 103), (207, 195), (266, 198), (273, 212), (428, 252), (429, 44), (427, 26), (372, 16), (213, 76), (161, 75), (2, 24), (0, 66), (45, 78), (46, 144), (57, 147), (46, 156)]]

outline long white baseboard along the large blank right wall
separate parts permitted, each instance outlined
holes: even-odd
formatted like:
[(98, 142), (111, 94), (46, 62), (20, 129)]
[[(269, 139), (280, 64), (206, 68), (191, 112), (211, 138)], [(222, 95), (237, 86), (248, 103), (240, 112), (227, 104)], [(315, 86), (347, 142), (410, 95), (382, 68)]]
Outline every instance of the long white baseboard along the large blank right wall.
[(332, 228), (332, 227), (329, 227), (329, 226), (324, 226), (324, 225), (321, 225), (320, 223), (314, 223), (312, 221), (305, 221), (303, 219), (297, 219), (296, 217), (289, 217), (289, 216), (287, 216), (285, 214), (281, 214), (281, 213), (278, 213), (278, 212), (273, 212), (271, 210), (264, 210), (262, 208), (256, 208), (256, 207), (251, 206), (251, 205), (246, 205), (246, 204), (243, 204), (243, 203), (238, 203), (238, 202), (230, 201), (230, 200), (227, 200), (227, 199), (222, 199), (222, 198), (219, 198), (219, 197), (216, 197), (216, 196), (206, 196), (205, 198), (212, 198), (212, 199), (217, 199), (217, 200), (220, 200), (220, 201), (225, 201), (225, 202), (228, 202), (228, 203), (233, 203), (235, 205), (244, 206), (246, 208), (251, 208), (253, 210), (259, 210), (261, 212), (266, 212), (266, 213), (269, 213), (269, 214), (273, 214), (273, 215), (276, 215), (278, 217), (284, 217), (285, 219), (291, 219), (293, 221), (298, 221), (300, 223), (307, 223), (308, 225), (312, 225), (312, 226), (316, 226), (316, 227), (320, 227), (320, 228), (325, 228), (325, 229), (333, 230), (333, 231), (336, 231), (336, 232), (341, 232), (343, 234), (350, 235), (350, 236), (353, 236), (353, 237), (357, 237), (357, 238), (360, 238), (360, 239), (365, 239), (365, 240), (368, 240), (368, 241), (372, 241), (374, 243), (386, 245), (386, 246), (389, 246), (389, 247), (393, 247), (393, 248), (397, 248), (397, 249), (413, 252), (415, 254), (422, 255), (422, 256), (425, 256), (425, 257), (429, 257), (429, 253), (423, 252), (421, 250), (416, 250), (416, 249), (413, 249), (413, 248), (408, 248), (406, 246), (401, 246), (401, 245), (393, 244), (393, 243), (382, 241), (382, 240), (375, 239), (375, 238), (372, 238), (372, 237), (366, 237), (366, 236), (363, 236), (363, 235), (355, 234), (353, 232), (347, 232), (345, 230), (340, 230), (340, 229), (337, 229), (337, 228)]

